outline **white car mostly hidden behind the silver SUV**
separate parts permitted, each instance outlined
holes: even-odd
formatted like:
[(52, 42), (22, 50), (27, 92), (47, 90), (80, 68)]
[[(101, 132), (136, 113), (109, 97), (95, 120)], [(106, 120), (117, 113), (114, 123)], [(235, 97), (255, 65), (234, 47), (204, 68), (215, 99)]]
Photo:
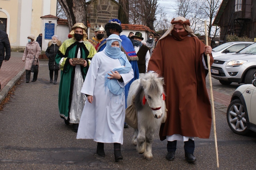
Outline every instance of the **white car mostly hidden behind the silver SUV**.
[(212, 56), (214, 58), (221, 55), (232, 54), (253, 43), (254, 42), (245, 42), (245, 41), (244, 42), (234, 41), (234, 42), (224, 43), (212, 49)]

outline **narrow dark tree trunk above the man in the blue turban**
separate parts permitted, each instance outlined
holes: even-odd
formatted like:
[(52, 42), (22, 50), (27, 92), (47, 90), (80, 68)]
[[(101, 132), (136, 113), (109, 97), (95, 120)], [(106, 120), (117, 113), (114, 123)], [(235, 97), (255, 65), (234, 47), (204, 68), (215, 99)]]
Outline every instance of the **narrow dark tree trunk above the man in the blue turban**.
[(129, 1), (128, 0), (119, 0), (118, 19), (121, 21), (121, 23), (129, 24)]

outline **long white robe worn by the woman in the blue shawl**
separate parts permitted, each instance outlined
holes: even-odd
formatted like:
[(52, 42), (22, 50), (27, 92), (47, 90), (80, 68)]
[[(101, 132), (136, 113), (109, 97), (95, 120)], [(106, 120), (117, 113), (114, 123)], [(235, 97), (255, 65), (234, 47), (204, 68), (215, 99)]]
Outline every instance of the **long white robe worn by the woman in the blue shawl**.
[[(77, 139), (123, 144), (125, 96), (122, 102), (115, 102), (105, 93), (104, 87), (105, 74), (120, 66), (118, 59), (108, 57), (104, 51), (94, 55), (81, 90), (81, 93), (93, 96), (93, 103), (85, 102)], [(133, 78), (133, 70), (120, 75), (124, 82), (118, 83), (124, 87)]]

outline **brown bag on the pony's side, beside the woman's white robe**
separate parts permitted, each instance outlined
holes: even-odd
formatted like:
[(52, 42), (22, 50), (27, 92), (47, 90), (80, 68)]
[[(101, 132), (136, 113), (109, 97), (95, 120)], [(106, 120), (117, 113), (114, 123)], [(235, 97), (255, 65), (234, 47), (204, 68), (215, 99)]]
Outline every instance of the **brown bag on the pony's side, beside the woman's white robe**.
[(132, 96), (131, 105), (129, 105), (125, 110), (125, 123), (134, 129), (138, 129), (138, 118), (137, 111), (134, 106), (134, 97), (135, 96)]

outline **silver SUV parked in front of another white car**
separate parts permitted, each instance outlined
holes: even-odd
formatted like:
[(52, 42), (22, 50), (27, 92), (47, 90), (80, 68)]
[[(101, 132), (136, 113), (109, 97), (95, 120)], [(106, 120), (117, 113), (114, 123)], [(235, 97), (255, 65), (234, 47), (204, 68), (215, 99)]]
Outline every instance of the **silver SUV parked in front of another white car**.
[(252, 84), (256, 79), (256, 43), (225, 56), (214, 58), (211, 75), (221, 84)]

